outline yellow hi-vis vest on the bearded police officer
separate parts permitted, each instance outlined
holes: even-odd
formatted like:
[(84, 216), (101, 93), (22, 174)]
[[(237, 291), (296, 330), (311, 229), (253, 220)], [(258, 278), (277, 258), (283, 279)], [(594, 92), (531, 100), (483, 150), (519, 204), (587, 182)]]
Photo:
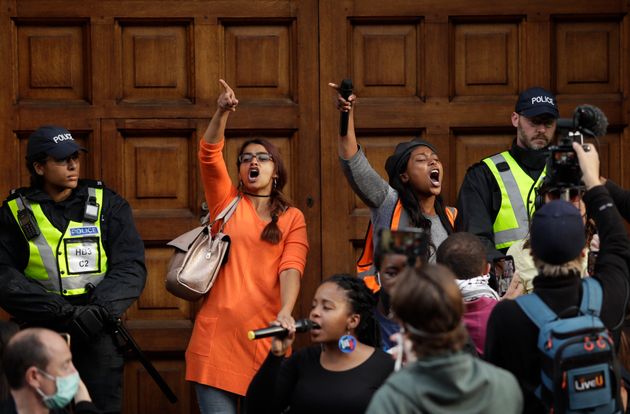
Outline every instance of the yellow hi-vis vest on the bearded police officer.
[(492, 226), (494, 246), (497, 250), (507, 249), (527, 236), (529, 217), (534, 213), (535, 189), (540, 187), (547, 167), (534, 183), (508, 151), (485, 158), (483, 162), (501, 190), (501, 208)]

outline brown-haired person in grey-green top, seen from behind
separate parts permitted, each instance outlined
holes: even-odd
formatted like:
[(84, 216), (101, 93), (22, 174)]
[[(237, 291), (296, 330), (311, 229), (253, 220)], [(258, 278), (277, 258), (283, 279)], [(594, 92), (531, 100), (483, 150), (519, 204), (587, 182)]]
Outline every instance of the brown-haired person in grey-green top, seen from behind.
[(392, 293), (403, 327), (404, 368), (381, 386), (366, 414), (518, 414), (523, 396), (512, 374), (463, 350), (468, 334), (455, 275), (443, 265), (408, 266)]

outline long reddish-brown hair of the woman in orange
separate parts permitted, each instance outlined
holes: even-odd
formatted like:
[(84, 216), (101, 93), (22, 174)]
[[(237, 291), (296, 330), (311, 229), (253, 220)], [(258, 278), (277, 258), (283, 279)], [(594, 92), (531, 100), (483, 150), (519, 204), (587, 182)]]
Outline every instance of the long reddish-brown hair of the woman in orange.
[[(278, 244), (282, 240), (282, 231), (278, 227), (278, 217), (285, 212), (285, 210), (293, 205), (283, 193), (282, 189), (287, 183), (287, 170), (284, 167), (282, 157), (280, 157), (280, 151), (278, 147), (271, 142), (263, 138), (254, 138), (247, 140), (241, 145), (238, 154), (241, 155), (245, 148), (250, 144), (258, 144), (265, 147), (267, 152), (271, 154), (271, 159), (275, 165), (275, 174), (277, 178), (274, 178), (274, 184), (271, 189), (271, 197), (269, 198), (269, 212), (271, 214), (271, 222), (265, 226), (263, 232), (260, 235), (261, 240), (265, 240), (271, 244)], [(241, 162), (236, 159), (236, 167), (241, 168)]]

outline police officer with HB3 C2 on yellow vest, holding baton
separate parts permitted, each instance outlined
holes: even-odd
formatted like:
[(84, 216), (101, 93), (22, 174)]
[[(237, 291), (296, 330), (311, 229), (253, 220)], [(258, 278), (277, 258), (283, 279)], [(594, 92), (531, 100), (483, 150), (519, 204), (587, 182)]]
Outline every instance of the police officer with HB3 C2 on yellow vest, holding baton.
[(69, 332), (94, 403), (114, 413), (124, 360), (107, 326), (144, 288), (144, 244), (127, 201), (79, 179), (81, 151), (65, 128), (30, 135), (31, 185), (0, 209), (0, 306), (24, 325)]

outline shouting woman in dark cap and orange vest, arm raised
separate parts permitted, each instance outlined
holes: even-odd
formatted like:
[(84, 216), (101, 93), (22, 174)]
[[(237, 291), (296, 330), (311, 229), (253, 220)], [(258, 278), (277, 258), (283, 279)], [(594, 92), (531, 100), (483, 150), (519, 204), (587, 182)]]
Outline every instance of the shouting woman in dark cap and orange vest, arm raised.
[(377, 292), (374, 250), (382, 228), (420, 228), (429, 234), (429, 262), (435, 262), (435, 250), (454, 231), (457, 209), (444, 205), (440, 193), (444, 170), (435, 147), (420, 139), (401, 142), (387, 158), (385, 170), (389, 182), (372, 168), (357, 143), (354, 130), (355, 95), (344, 99), (336, 84), (336, 107), (348, 112), (348, 131), (339, 136), (339, 161), (350, 186), (370, 208), (371, 222), (357, 263), (357, 274)]

